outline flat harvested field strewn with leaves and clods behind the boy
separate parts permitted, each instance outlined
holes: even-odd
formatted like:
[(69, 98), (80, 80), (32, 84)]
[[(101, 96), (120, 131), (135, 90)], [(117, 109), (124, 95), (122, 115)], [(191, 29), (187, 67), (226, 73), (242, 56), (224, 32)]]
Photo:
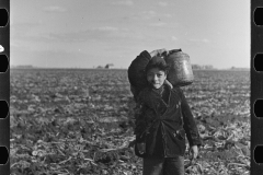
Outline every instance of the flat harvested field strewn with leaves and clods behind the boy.
[[(183, 88), (204, 145), (187, 175), (250, 172), (250, 72), (194, 71)], [(12, 175), (139, 175), (126, 70), (12, 69)]]

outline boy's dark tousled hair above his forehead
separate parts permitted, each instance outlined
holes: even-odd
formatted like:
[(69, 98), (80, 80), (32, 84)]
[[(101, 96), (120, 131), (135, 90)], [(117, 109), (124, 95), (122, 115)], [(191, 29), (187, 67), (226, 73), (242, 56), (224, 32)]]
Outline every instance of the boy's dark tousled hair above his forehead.
[(146, 66), (145, 72), (147, 73), (150, 69), (158, 68), (168, 74), (169, 66), (162, 57), (152, 57), (151, 60)]

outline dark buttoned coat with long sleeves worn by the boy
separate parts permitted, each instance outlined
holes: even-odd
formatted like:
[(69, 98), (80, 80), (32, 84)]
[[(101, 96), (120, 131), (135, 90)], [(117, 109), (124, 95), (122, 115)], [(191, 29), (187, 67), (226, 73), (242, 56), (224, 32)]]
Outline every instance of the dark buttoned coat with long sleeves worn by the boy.
[(137, 97), (139, 110), (136, 115), (135, 135), (137, 142), (146, 142), (146, 153), (142, 156), (184, 155), (185, 133), (190, 145), (202, 144), (182, 90), (163, 85), (168, 94), (168, 103), (151, 88), (144, 89)]

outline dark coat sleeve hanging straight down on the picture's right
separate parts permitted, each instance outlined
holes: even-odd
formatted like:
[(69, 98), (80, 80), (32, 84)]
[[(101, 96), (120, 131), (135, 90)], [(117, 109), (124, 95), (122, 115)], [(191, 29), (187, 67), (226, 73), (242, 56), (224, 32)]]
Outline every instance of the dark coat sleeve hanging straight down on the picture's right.
[(183, 122), (184, 122), (184, 130), (190, 142), (190, 145), (202, 145), (202, 140), (198, 133), (198, 129), (196, 127), (193, 114), (188, 106), (188, 103), (183, 94), (183, 91), (179, 89), (179, 93), (181, 96), (181, 106), (182, 106), (182, 114), (183, 114)]

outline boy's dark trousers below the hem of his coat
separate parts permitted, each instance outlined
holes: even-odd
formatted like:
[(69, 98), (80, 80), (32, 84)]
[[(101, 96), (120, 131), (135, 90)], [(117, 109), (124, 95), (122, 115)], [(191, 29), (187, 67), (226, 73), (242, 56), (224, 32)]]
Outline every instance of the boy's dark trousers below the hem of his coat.
[(184, 175), (184, 156), (145, 158), (142, 175)]

